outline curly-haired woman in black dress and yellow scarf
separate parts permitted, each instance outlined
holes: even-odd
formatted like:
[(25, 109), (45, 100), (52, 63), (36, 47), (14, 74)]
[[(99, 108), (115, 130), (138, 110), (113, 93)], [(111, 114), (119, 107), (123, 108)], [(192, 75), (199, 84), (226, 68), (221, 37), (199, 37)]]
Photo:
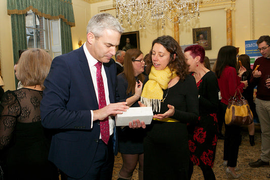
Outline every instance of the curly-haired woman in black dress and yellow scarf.
[(152, 106), (155, 115), (143, 142), (143, 178), (187, 179), (186, 123), (195, 123), (199, 116), (195, 79), (188, 75), (181, 47), (169, 35), (152, 42), (146, 62), (149, 80), (141, 102)]

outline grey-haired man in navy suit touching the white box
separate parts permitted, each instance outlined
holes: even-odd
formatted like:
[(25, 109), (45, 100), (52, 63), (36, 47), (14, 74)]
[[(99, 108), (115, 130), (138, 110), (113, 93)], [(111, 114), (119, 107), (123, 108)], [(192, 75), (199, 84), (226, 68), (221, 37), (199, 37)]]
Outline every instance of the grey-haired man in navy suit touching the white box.
[[(93, 16), (87, 26), (87, 41), (79, 49), (54, 58), (44, 82), (41, 101), (42, 124), (55, 129), (49, 160), (68, 179), (111, 179), (115, 123), (111, 115), (128, 109), (126, 102), (115, 102), (116, 67), (111, 57), (119, 45), (123, 28), (107, 13)], [(99, 108), (100, 83), (97, 67), (101, 62), (104, 98)], [(99, 71), (100, 72), (100, 71)], [(100, 81), (99, 81), (100, 82)], [(103, 89), (103, 88), (102, 88)], [(108, 118), (107, 118), (108, 117)], [(108, 122), (109, 139), (101, 139), (101, 123)], [(144, 127), (143, 122), (130, 127)], [(108, 131), (107, 131), (108, 132)]]

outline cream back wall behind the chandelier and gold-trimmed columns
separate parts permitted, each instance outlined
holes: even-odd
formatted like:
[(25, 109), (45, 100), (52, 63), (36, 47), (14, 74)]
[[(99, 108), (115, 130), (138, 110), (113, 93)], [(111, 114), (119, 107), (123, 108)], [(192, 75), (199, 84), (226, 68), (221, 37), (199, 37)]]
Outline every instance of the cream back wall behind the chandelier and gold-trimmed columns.
[[(211, 2), (211, 1), (208, 1)], [(215, 2), (215, 1), (212, 1)], [(217, 2), (217, 1), (216, 1)], [(220, 1), (222, 2), (222, 1)], [(254, 13), (251, 12), (252, 2), (254, 3)], [(91, 16), (100, 12), (99, 10), (110, 9), (108, 12), (115, 16), (116, 10), (112, 9), (113, 1), (103, 1), (91, 4)], [(270, 24), (266, 17), (270, 16), (269, 0), (236, 0), (235, 7), (232, 7), (233, 23), (233, 46), (240, 47), (240, 54), (245, 53), (245, 41), (258, 39), (260, 35), (269, 34)], [(179, 24), (180, 45), (192, 44), (192, 28), (211, 27), (212, 50), (206, 50), (206, 55), (210, 59), (215, 59), (222, 46), (227, 45), (226, 38), (226, 9), (201, 10), (200, 18), (195, 18), (189, 23), (181, 21)], [(252, 17), (254, 17), (254, 32), (252, 31)], [(149, 52), (151, 42), (161, 35), (174, 36), (174, 25), (167, 22), (164, 30), (161, 25), (147, 26), (146, 29), (139, 29), (138, 25), (130, 27), (123, 25), (125, 32), (139, 30), (140, 49), (146, 54)]]

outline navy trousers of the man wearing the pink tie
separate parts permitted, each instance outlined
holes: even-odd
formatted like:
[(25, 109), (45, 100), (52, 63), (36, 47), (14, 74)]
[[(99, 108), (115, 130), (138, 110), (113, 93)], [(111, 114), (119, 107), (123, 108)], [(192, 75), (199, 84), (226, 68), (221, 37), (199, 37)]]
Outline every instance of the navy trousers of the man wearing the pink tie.
[[(94, 152), (89, 152), (94, 153)], [(93, 163), (88, 170), (87, 174), (81, 178), (81, 180), (108, 180), (112, 179), (114, 163), (113, 143), (112, 137), (110, 137), (108, 145), (106, 145), (101, 139), (98, 142), (98, 148), (95, 153)], [(67, 177), (68, 180), (73, 180), (71, 177)]]

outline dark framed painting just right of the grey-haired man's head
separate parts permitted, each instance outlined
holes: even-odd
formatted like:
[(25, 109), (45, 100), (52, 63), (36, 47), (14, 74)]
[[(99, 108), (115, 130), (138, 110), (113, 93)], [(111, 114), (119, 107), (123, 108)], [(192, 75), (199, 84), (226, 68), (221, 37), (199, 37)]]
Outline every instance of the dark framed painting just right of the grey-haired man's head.
[(140, 49), (139, 31), (124, 32), (121, 35), (118, 50)]

